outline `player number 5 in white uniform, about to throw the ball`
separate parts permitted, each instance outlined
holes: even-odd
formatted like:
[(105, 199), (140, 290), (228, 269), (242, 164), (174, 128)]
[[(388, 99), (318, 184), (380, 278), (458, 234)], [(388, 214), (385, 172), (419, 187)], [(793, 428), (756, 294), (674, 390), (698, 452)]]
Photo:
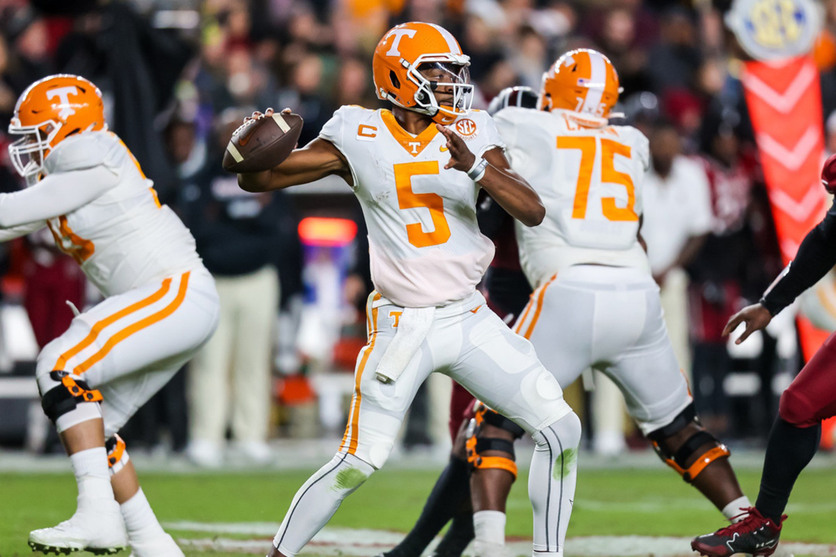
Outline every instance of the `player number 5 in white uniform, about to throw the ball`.
[(416, 389), (434, 371), (532, 435), (533, 550), (563, 554), (580, 422), (531, 344), (476, 290), (493, 256), (477, 227), (479, 189), (525, 226), (543, 220), (543, 205), (508, 166), (491, 117), (470, 109), (468, 63), (446, 29), (398, 25), (373, 58), (375, 92), (391, 110), (344, 106), (318, 139), (272, 170), (239, 175), (249, 191), (343, 178), (368, 225), (375, 283), (343, 441), (293, 498), (271, 557), (298, 554), (344, 497), (384, 465)]

